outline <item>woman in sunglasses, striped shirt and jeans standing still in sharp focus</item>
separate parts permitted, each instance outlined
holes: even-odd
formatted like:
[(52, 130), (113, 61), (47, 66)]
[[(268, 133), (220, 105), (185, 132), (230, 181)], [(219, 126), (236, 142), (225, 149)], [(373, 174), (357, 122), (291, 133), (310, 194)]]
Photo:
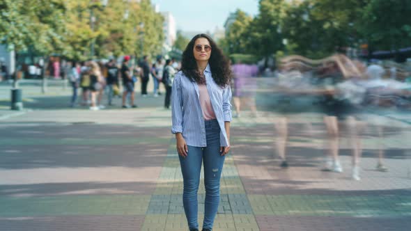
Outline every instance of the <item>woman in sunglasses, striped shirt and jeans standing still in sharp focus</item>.
[(183, 173), (183, 205), (189, 230), (198, 230), (197, 191), (204, 165), (206, 200), (203, 230), (212, 230), (219, 205), (225, 155), (230, 150), (231, 70), (206, 34), (194, 36), (183, 52), (172, 90), (171, 132), (176, 134)]

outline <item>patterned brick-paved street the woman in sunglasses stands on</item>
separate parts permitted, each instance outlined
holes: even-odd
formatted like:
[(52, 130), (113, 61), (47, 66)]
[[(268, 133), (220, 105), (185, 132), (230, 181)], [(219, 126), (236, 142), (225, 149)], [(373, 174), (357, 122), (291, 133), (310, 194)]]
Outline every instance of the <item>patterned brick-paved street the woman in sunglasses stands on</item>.
[[(214, 230), (410, 230), (410, 114), (361, 114), (369, 125), (355, 181), (344, 126), (343, 173), (327, 172), (322, 115), (288, 113), (284, 169), (274, 130), (284, 114), (273, 110), (270, 79), (258, 83), (258, 117), (245, 111), (232, 122)], [(116, 99), (116, 106), (89, 111), (68, 108), (70, 89), (51, 86), (42, 95), (39, 86), (24, 86), (29, 110), (16, 112), (8, 111), (8, 86), (0, 89), (0, 230), (187, 230), (164, 95), (137, 95), (138, 109), (119, 109)], [(377, 122), (384, 139), (376, 135)], [(375, 170), (381, 146), (387, 172)], [(200, 220), (204, 197), (201, 183)]]

